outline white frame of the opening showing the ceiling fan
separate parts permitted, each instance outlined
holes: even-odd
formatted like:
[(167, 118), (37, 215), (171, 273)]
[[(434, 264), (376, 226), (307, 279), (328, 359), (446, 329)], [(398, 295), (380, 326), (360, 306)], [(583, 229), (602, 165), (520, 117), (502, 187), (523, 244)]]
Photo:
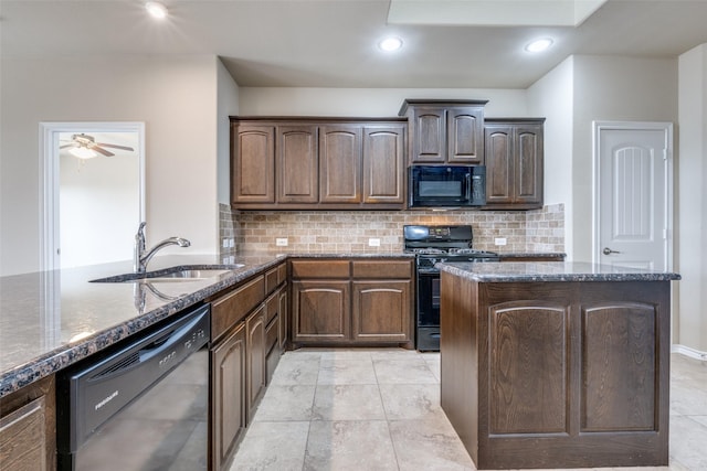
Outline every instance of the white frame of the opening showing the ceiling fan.
[[(40, 122), (40, 270), (61, 267), (59, 249), (59, 138), (65, 132), (137, 132), (139, 221), (145, 221), (145, 122)], [(136, 222), (136, 223), (139, 223)]]

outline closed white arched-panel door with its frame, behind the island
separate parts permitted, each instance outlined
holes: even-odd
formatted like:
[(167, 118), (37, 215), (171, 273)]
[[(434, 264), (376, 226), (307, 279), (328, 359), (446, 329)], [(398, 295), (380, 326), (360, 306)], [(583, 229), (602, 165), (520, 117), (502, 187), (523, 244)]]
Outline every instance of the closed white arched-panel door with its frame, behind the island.
[(594, 261), (672, 269), (673, 125), (594, 122)]

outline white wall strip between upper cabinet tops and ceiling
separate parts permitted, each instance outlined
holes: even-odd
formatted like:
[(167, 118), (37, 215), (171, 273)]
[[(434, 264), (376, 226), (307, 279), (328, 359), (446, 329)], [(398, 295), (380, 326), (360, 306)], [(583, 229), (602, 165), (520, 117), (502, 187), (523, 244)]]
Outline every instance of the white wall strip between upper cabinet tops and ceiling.
[(479, 88), (241, 87), (241, 116), (395, 117), (405, 98), (487, 99), (486, 117), (527, 115), (526, 92)]

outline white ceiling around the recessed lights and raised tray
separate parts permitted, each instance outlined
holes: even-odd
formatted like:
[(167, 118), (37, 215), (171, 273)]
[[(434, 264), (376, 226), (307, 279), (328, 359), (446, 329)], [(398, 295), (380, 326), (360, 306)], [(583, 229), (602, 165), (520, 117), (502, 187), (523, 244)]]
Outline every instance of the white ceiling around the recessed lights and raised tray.
[[(429, 1), (444, 10), (463, 0)], [(577, 28), (393, 24), (390, 0), (163, 3), (169, 17), (156, 22), (143, 0), (0, 0), (0, 52), (215, 54), (241, 86), (526, 88), (570, 54), (676, 57), (707, 43), (707, 0), (609, 0)], [(391, 33), (405, 46), (381, 53), (376, 43)], [(537, 36), (555, 45), (525, 53)]]

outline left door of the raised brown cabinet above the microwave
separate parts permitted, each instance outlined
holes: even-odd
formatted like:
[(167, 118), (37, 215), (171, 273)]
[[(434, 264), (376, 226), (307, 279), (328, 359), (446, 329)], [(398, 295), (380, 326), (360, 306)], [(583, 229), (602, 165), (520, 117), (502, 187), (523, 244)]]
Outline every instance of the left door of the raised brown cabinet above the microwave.
[(444, 163), (446, 160), (446, 111), (440, 107), (415, 107), (412, 120), (410, 163)]

